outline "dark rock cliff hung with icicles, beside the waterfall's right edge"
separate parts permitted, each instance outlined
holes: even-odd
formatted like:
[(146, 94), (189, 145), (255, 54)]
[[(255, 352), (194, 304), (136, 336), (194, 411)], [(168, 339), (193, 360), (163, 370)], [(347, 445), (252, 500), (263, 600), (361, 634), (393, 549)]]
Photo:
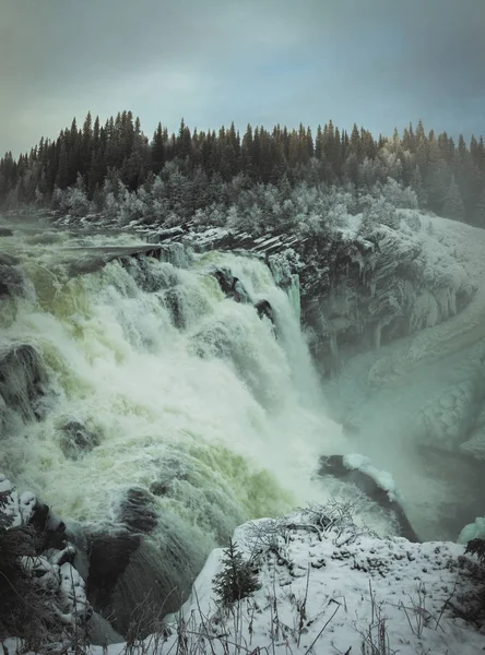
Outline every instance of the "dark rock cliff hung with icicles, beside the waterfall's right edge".
[(346, 229), (301, 245), (303, 319), (327, 372), (357, 352), (433, 327), (470, 303), (477, 290), (472, 261), (445, 236), (402, 221), (399, 229), (381, 225), (365, 238)]

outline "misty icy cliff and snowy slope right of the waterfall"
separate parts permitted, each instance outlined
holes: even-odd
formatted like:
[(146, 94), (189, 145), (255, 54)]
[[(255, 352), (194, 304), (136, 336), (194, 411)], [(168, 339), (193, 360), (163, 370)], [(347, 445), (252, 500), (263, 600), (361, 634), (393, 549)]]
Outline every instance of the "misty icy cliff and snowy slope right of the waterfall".
[(332, 417), (392, 472), (423, 538), (456, 539), (485, 498), (485, 231), (405, 217), (375, 243), (305, 243), (303, 317)]

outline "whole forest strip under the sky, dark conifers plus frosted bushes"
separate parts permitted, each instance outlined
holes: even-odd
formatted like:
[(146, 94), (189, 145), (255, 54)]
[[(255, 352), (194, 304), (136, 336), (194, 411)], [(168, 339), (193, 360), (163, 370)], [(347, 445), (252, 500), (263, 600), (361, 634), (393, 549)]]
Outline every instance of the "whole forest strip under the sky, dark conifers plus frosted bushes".
[(7, 153), (0, 160), (3, 209), (36, 205), (115, 217), (125, 204), (126, 221), (145, 224), (199, 217), (217, 225), (221, 212), (237, 212), (239, 203), (258, 205), (255, 231), (274, 229), (275, 206), (284, 228), (285, 214), (298, 212), (295, 189), (375, 198), (385, 189), (387, 199), (401, 195), (401, 206), (485, 227), (485, 145), (482, 136), (465, 143), (460, 135), (456, 143), (446, 132), (425, 132), (421, 121), (401, 135), (394, 130), (376, 139), (332, 121), (315, 133), (303, 124), (272, 131), (248, 126), (241, 135), (234, 123), (204, 132), (182, 119), (176, 134), (158, 123), (149, 139), (139, 118), (123, 111), (105, 124), (91, 114), (82, 126), (74, 119), (55, 141), (40, 139), (28, 154), (15, 159)]

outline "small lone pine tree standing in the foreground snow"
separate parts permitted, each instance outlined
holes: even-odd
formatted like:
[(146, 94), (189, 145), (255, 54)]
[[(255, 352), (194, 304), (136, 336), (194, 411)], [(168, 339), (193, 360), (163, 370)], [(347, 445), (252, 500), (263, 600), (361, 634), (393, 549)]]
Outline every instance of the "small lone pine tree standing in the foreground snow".
[(224, 569), (214, 576), (213, 590), (224, 605), (246, 598), (260, 588), (258, 576), (232, 539), (224, 549), (222, 561)]

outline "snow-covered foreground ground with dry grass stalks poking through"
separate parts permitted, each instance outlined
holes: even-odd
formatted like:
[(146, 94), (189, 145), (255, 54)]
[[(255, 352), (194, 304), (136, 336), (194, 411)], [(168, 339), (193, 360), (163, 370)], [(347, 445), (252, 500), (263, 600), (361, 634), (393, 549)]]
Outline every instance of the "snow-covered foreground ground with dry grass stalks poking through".
[[(330, 516), (330, 522), (329, 522)], [(308, 508), (279, 521), (247, 523), (235, 541), (255, 562), (261, 588), (228, 610), (212, 588), (223, 551), (214, 550), (191, 598), (168, 630), (93, 655), (476, 655), (485, 635), (451, 607), (470, 597), (472, 560), (451, 543), (378, 539), (342, 508)], [(475, 587), (476, 588), (476, 587)], [(14, 642), (5, 643), (10, 655)], [(0, 647), (0, 653), (1, 653)], [(3, 651), (2, 655), (7, 655)]]

